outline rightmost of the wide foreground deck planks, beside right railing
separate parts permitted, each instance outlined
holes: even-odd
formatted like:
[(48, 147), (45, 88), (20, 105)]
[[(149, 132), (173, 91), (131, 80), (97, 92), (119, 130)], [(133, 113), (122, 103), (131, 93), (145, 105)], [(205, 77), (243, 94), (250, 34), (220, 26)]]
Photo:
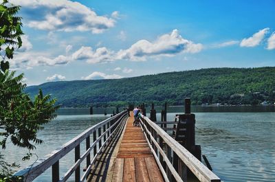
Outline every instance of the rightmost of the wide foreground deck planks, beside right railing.
[(145, 157), (146, 168), (148, 170), (148, 174), (151, 182), (160, 182), (163, 181), (162, 175), (159, 172), (159, 168), (157, 163), (155, 163), (155, 159), (153, 157)]

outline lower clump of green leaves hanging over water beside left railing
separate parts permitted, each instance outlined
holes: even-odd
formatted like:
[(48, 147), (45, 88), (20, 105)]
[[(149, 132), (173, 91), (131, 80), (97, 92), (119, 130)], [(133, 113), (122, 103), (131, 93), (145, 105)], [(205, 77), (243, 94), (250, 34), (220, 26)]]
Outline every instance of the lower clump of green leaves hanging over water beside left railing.
[(34, 144), (43, 141), (36, 137), (39, 130), (43, 130), (43, 124), (47, 124), (56, 117), (54, 106), (56, 99), (50, 100), (50, 95), (43, 96), (42, 91), (35, 96), (34, 102), (23, 93), (25, 84), (21, 83), (23, 74), (14, 76), (15, 71), (6, 70), (0, 73), (0, 125), (5, 126), (5, 131), (0, 133), (2, 148), (5, 148), (6, 140), (10, 137), (12, 144), (34, 149)]

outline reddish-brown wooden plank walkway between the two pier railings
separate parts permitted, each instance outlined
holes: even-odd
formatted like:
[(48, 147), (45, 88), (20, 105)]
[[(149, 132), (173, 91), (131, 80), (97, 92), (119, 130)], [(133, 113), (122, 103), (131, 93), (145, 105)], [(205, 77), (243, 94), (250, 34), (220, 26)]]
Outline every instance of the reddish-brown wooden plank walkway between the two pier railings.
[(140, 126), (133, 126), (133, 113), (113, 164), (111, 181), (164, 181)]

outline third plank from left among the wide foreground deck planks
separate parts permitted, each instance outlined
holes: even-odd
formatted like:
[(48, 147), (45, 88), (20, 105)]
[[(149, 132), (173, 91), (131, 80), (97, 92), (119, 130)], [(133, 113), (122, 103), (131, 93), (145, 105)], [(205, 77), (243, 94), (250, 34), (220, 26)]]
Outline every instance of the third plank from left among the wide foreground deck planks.
[(137, 182), (150, 182), (144, 157), (135, 157), (135, 177)]

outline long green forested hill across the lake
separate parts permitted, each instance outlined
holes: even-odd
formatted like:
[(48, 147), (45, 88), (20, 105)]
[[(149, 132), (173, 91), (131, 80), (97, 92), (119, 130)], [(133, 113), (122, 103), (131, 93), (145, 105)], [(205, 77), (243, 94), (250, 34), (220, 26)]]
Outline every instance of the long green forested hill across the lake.
[(252, 69), (211, 68), (159, 73), (117, 80), (47, 82), (25, 89), (33, 97), (39, 88), (51, 93), (65, 107), (154, 102), (157, 105), (274, 103), (275, 67)]

